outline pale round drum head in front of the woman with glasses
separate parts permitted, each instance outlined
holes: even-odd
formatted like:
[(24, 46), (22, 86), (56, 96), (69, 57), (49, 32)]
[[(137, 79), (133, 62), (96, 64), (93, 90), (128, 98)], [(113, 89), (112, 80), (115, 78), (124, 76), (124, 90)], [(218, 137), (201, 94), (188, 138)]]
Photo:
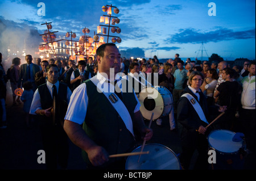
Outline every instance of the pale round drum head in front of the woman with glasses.
[(221, 153), (235, 153), (243, 144), (243, 141), (232, 141), (236, 133), (224, 129), (210, 132), (208, 136), (208, 143), (210, 148)]

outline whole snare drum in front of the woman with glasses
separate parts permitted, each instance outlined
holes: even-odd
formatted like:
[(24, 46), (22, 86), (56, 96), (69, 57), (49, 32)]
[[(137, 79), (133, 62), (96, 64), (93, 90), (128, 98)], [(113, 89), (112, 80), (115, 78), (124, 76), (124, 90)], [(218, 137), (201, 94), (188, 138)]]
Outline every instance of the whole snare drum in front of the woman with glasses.
[(242, 169), (244, 161), (241, 157), (241, 149), (244, 147), (244, 141), (232, 141), (235, 134), (225, 129), (210, 132), (208, 136), (209, 148), (216, 151), (214, 169)]

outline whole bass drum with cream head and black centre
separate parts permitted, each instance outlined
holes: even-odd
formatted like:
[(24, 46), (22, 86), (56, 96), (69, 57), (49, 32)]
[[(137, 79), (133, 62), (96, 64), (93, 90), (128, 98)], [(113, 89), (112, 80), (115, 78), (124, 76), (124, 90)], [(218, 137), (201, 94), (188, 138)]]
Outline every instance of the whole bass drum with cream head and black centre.
[(153, 120), (167, 116), (174, 106), (171, 92), (163, 86), (144, 87), (139, 92), (138, 99), (142, 116), (147, 120), (151, 119), (153, 112)]

